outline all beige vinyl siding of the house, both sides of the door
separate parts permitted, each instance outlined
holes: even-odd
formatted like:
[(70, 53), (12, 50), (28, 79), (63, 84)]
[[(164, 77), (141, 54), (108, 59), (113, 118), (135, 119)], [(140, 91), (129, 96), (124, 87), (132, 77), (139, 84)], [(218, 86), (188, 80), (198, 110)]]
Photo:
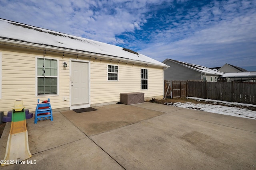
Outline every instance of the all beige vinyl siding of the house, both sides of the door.
[[(0, 47), (2, 53), (2, 98), (0, 111), (11, 111), (15, 100), (22, 99), (29, 111), (35, 111), (37, 99), (40, 102), (50, 98), (53, 109), (70, 107), (70, 58), (62, 53), (46, 51), (49, 59), (58, 59), (58, 95), (37, 96), (36, 59), (44, 57), (43, 50)], [(88, 58), (79, 58), (88, 61)], [(66, 62), (68, 66), (63, 67)], [(118, 81), (108, 80), (108, 64), (118, 66)], [(141, 68), (148, 70), (148, 89), (141, 90)], [(120, 100), (120, 93), (143, 92), (145, 98), (163, 95), (163, 70), (161, 67), (139, 66), (102, 59), (90, 60), (90, 104), (116, 102)], [(63, 98), (67, 100), (64, 101)]]

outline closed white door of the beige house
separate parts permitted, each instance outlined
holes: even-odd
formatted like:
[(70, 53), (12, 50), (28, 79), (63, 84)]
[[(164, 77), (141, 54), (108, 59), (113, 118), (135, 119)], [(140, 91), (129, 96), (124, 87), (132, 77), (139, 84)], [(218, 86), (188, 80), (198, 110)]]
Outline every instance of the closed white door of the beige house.
[(90, 107), (88, 84), (88, 63), (71, 61), (70, 109)]

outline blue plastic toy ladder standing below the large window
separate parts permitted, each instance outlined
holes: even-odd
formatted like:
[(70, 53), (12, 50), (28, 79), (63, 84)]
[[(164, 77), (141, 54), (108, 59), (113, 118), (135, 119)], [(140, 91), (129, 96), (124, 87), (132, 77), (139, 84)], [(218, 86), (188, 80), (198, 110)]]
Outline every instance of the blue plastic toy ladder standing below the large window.
[(36, 124), (37, 121), (48, 120), (48, 119), (53, 121), (52, 107), (51, 107), (51, 104), (50, 104), (50, 99), (48, 99), (46, 101), (46, 103), (39, 103), (39, 99), (38, 99), (37, 100), (34, 123)]

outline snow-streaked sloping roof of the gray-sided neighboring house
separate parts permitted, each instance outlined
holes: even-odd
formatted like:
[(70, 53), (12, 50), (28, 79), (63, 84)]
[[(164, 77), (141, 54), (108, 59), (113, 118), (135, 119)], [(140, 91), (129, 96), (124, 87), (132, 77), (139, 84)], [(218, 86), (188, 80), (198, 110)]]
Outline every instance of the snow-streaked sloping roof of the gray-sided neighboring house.
[(217, 71), (217, 70), (212, 70), (210, 68), (207, 68), (205, 66), (200, 66), (200, 65), (196, 65), (196, 64), (190, 64), (190, 63), (185, 63), (183, 61), (176, 61), (176, 60), (172, 60), (172, 59), (168, 59), (170, 61), (174, 61), (176, 63), (182, 64), (183, 66), (186, 66), (188, 68), (191, 68), (193, 70), (202, 72), (202, 73), (206, 73), (206, 74), (215, 74), (215, 75), (222, 75), (223, 72)]

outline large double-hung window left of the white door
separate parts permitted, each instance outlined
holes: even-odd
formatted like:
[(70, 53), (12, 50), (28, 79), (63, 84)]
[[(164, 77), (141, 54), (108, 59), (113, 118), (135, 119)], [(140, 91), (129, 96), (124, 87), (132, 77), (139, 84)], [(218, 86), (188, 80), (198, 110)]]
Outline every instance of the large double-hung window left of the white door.
[(58, 60), (37, 59), (37, 95), (57, 94)]

